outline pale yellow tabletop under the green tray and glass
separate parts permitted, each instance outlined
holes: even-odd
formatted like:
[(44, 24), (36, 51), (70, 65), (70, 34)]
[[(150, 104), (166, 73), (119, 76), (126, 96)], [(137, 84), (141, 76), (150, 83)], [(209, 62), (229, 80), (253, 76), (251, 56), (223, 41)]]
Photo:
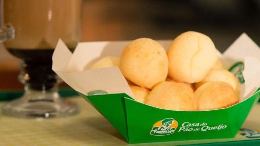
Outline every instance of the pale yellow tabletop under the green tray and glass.
[[(82, 97), (72, 97), (81, 108), (79, 114), (53, 119), (23, 119), (0, 113), (1, 146), (125, 146), (118, 131)], [(0, 107), (4, 102), (0, 102)], [(260, 103), (257, 103), (242, 127), (260, 132)], [(256, 140), (260, 138), (255, 138)], [(223, 141), (251, 140), (239, 134), (234, 139), (164, 142), (136, 145), (182, 145)]]

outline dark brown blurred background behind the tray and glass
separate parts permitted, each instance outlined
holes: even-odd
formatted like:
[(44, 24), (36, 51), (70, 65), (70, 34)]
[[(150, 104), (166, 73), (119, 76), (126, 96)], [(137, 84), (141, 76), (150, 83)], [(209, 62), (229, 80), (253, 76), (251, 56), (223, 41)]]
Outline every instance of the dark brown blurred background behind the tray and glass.
[[(260, 46), (260, 0), (83, 0), (82, 42), (174, 39), (193, 30), (221, 52), (246, 32)], [(0, 90), (22, 89), (20, 60), (0, 44)]]

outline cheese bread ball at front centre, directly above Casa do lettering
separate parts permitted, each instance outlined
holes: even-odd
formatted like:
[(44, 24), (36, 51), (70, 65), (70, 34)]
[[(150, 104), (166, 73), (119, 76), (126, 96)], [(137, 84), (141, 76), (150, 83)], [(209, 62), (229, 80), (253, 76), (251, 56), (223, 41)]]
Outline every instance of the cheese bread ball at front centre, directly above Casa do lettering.
[(185, 83), (162, 82), (154, 87), (145, 103), (167, 110), (197, 110), (194, 93)]

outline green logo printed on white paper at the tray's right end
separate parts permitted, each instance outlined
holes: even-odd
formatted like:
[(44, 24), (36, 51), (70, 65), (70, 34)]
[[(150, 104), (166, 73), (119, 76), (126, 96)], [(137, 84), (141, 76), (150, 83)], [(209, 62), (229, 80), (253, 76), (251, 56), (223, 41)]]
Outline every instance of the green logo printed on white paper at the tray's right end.
[(236, 62), (231, 68), (229, 69), (231, 73), (233, 73), (236, 78), (238, 79), (239, 83), (244, 83), (244, 77), (242, 72), (244, 71), (244, 63), (243, 62)]

